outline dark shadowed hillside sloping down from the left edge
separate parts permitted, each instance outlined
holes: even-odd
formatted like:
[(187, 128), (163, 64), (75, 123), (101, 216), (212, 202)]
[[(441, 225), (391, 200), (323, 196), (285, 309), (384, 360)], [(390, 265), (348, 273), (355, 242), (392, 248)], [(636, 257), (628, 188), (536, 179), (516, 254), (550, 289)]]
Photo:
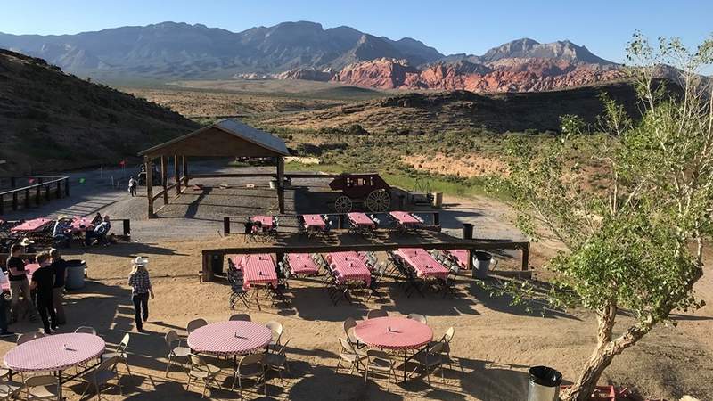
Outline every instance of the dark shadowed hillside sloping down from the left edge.
[(158, 104), (0, 49), (0, 165), (5, 174), (115, 166), (195, 123)]

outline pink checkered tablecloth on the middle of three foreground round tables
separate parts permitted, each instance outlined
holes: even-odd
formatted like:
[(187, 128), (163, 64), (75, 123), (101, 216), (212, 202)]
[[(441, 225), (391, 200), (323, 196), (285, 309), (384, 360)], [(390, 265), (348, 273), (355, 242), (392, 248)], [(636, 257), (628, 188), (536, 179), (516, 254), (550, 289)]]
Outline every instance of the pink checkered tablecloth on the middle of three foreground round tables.
[(273, 333), (263, 324), (252, 322), (210, 323), (188, 334), (193, 352), (212, 355), (245, 355), (265, 348)]

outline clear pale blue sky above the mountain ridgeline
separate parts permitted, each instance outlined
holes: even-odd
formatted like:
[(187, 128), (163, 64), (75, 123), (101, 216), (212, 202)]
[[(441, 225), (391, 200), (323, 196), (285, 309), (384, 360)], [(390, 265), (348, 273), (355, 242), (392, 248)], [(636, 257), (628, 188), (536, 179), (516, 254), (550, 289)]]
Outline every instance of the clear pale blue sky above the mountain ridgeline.
[(635, 29), (655, 39), (681, 37), (692, 48), (713, 33), (713, 0), (2, 0), (0, 32), (58, 35), (148, 25), (201, 23), (235, 32), (290, 20), (347, 25), (392, 39), (414, 37), (444, 54), (482, 54), (513, 39), (569, 39), (625, 61)]

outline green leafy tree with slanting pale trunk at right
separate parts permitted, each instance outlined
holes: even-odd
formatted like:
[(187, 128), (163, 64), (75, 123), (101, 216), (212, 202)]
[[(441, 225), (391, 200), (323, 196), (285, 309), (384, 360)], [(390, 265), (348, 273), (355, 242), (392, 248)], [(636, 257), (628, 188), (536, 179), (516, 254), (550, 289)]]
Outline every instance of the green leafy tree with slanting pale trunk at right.
[[(613, 358), (672, 311), (701, 306), (693, 284), (713, 236), (713, 94), (696, 72), (713, 61), (713, 40), (695, 52), (677, 38), (654, 49), (636, 33), (628, 56), (642, 119), (603, 97), (597, 127), (605, 132), (585, 133), (568, 116), (561, 140), (544, 151), (515, 138), (511, 174), (497, 186), (512, 195), (525, 233), (537, 240), (548, 231), (566, 248), (545, 266), (556, 277), (546, 299), (596, 315), (596, 346), (561, 395), (568, 401), (588, 400)], [(679, 69), (677, 85), (655, 78), (664, 64)], [(587, 187), (584, 154), (603, 168), (606, 188)], [(633, 319), (618, 319), (619, 311)]]

